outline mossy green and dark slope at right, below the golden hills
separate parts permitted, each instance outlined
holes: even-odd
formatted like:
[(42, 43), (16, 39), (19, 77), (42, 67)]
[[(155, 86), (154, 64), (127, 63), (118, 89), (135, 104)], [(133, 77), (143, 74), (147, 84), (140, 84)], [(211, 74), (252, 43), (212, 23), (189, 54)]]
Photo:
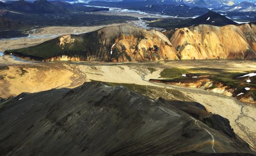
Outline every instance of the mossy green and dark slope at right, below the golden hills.
[[(247, 71), (247, 73), (253, 73), (255, 71)], [(186, 77), (183, 77), (182, 74), (186, 74)], [(196, 83), (198, 78), (192, 77), (200, 77), (204, 76), (204, 78), (210, 79), (213, 81), (213, 85), (210, 88), (213, 89), (218, 87), (218, 84), (221, 83), (223, 86), (228, 86), (229, 88), (233, 88), (235, 94), (245, 93), (251, 94), (254, 99), (256, 99), (256, 91), (254, 90), (245, 90), (245, 87), (256, 88), (256, 79), (250, 78), (251, 82), (247, 83), (247, 77), (238, 78), (246, 73), (229, 71), (226, 69), (211, 69), (211, 68), (192, 68), (192, 69), (179, 69), (179, 68), (167, 68), (164, 69), (160, 76), (161, 78), (165, 78), (162, 80), (163, 82), (185, 82), (190, 81), (191, 83)], [(217, 86), (216, 86), (217, 85)]]

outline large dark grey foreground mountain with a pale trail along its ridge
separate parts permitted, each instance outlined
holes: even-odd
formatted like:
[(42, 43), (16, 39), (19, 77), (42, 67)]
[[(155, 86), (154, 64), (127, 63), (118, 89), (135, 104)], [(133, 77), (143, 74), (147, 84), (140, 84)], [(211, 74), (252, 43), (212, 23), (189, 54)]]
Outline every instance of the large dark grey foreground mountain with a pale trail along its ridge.
[[(180, 102), (184, 107), (187, 104)], [(228, 152), (251, 156), (254, 153), (233, 134), (225, 118), (203, 117), (207, 112), (200, 104), (189, 105), (202, 119), (207, 119), (205, 123), (220, 130), (184, 113), (171, 101), (150, 99), (121, 86), (89, 82), (74, 89), (22, 93), (0, 105), (1, 154), (120, 156), (196, 151), (204, 153), (203, 156), (213, 153), (225, 156)], [(198, 111), (199, 108), (202, 110)]]

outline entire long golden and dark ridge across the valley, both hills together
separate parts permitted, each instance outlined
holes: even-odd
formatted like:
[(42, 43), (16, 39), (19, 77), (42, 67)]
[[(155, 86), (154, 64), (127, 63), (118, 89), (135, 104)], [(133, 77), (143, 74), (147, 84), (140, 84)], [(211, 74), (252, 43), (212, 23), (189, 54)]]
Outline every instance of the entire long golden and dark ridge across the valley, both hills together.
[(253, 60), (256, 26), (199, 25), (162, 33), (127, 25), (109, 26), (5, 53), (39, 61)]

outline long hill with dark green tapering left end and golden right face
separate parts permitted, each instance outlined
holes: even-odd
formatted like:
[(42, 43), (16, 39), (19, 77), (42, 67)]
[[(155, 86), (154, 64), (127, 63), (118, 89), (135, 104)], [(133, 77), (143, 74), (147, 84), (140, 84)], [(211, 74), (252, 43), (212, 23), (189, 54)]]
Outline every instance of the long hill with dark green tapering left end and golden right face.
[(127, 25), (109, 26), (81, 35), (63, 35), (6, 53), (36, 60), (120, 62), (179, 59), (179, 54), (162, 33)]

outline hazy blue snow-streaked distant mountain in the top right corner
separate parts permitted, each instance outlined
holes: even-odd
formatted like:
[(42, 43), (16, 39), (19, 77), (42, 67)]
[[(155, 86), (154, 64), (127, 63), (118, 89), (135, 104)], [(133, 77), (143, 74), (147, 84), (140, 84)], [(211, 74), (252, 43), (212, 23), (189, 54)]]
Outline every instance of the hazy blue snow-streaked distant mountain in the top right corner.
[(244, 12), (249, 12), (249, 11), (256, 11), (256, 4), (250, 3), (248, 1), (243, 1), (237, 5), (233, 5), (230, 7), (221, 7), (218, 9), (214, 9), (216, 11), (244, 11)]

